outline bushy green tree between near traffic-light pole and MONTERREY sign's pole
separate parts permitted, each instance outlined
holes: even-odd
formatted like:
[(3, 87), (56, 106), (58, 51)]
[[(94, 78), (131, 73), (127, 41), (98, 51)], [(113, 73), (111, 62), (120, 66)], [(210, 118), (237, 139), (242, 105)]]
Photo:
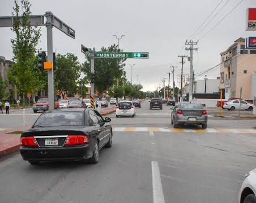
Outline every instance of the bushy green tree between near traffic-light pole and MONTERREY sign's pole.
[(77, 56), (71, 53), (58, 54), (54, 72), (56, 89), (61, 91), (62, 98), (74, 96), (78, 92), (81, 65)]

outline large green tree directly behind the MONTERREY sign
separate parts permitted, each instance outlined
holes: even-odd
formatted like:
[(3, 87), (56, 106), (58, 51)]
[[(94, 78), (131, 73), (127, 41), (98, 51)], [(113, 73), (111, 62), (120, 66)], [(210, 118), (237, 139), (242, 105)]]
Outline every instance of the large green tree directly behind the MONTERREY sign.
[[(108, 48), (102, 47), (101, 51), (117, 52), (118, 46), (112, 45)], [(103, 92), (108, 90), (116, 83), (116, 79), (123, 76), (123, 67), (126, 59), (95, 59), (95, 90), (100, 94), (100, 98), (103, 96)], [(83, 64), (83, 73), (86, 75), (87, 81), (90, 81), (91, 66), (89, 59)]]

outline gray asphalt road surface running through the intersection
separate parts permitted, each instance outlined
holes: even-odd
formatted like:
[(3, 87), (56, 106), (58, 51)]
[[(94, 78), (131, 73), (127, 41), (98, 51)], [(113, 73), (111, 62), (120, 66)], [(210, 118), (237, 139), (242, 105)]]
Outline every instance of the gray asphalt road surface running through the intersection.
[[(144, 101), (135, 118), (109, 117), (113, 127), (170, 127), (169, 111), (165, 105), (150, 110)], [(208, 122), (222, 129), (254, 126), (255, 120)], [(0, 161), (0, 202), (237, 202), (244, 174), (256, 166), (255, 136), (114, 132), (113, 147), (101, 151), (96, 165), (32, 166), (16, 153)]]

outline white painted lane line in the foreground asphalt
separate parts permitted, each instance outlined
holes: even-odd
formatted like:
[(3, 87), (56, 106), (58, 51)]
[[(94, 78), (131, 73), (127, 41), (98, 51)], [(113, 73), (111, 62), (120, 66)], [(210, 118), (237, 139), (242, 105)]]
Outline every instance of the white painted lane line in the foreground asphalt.
[(152, 187), (153, 187), (153, 203), (164, 203), (164, 193), (161, 183), (159, 165), (157, 161), (151, 161), (152, 167)]

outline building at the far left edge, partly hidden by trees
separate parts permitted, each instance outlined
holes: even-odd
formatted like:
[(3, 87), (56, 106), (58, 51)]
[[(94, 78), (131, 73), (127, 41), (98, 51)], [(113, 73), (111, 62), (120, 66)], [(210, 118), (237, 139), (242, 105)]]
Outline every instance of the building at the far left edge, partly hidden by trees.
[[(6, 60), (5, 57), (0, 56), (0, 77), (2, 78), (3, 82), (7, 82), (8, 86), (6, 87), (6, 92), (10, 95), (10, 100), (14, 100), (14, 91), (13, 86), (8, 80), (7, 72), (8, 68), (11, 67), (11, 61)], [(5, 98), (7, 99), (7, 98)]]

